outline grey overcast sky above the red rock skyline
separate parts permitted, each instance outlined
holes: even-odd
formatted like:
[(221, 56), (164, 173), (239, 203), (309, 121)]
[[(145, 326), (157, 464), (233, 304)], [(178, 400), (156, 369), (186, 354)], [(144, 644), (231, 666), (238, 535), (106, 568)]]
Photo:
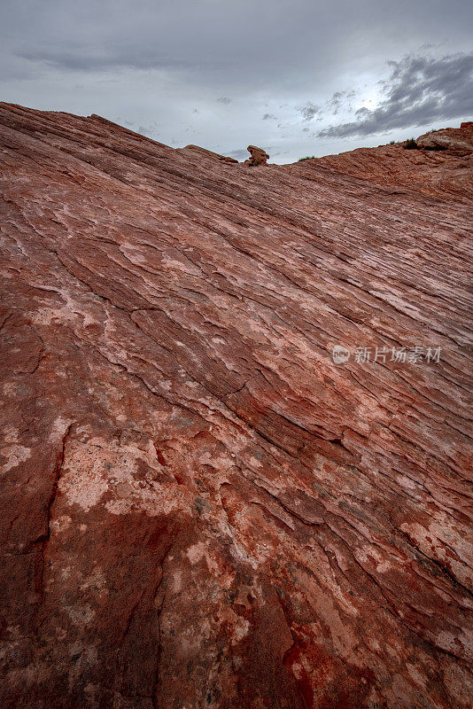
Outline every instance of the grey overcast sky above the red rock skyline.
[(473, 120), (471, 0), (0, 0), (0, 100), (292, 162)]

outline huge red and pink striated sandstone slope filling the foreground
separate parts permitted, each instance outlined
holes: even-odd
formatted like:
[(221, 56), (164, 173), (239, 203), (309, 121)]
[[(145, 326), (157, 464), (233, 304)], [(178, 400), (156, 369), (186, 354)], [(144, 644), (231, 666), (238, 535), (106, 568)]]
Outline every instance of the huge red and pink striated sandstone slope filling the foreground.
[(2, 707), (467, 707), (467, 168), (0, 150)]

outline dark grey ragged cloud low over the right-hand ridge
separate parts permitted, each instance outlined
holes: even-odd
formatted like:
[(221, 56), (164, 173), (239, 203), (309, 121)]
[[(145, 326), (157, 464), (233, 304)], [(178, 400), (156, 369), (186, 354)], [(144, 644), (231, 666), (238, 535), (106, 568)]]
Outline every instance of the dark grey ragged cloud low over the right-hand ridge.
[(387, 81), (380, 82), (384, 100), (372, 110), (359, 108), (356, 121), (323, 129), (319, 137), (370, 136), (473, 113), (473, 52), (440, 58), (409, 54), (387, 64), (392, 72)]

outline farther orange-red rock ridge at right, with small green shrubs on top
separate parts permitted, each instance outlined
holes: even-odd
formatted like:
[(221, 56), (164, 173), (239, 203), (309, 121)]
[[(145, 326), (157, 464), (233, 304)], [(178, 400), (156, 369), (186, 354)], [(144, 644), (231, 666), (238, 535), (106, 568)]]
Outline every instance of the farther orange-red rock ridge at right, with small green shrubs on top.
[(460, 129), (428, 133), (418, 137), (416, 143), (426, 149), (404, 150), (400, 144), (358, 148), (340, 155), (304, 160), (287, 166), (287, 169), (295, 175), (310, 178), (316, 163), (317, 171), (323, 167), (342, 175), (353, 175), (392, 187), (397, 194), (404, 191), (408, 196), (410, 191), (415, 191), (442, 201), (453, 199), (471, 204), (473, 123), (461, 123)]

